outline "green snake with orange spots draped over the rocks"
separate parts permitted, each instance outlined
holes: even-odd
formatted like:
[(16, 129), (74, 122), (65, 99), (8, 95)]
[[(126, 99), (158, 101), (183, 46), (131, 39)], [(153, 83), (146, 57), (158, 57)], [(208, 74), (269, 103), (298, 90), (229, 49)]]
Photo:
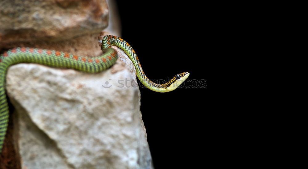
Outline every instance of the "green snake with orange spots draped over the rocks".
[(66, 52), (28, 47), (18, 47), (8, 50), (0, 55), (0, 153), (2, 151), (9, 121), (9, 107), (5, 93), (5, 77), (9, 66), (24, 62), (39, 63), (52, 67), (72, 68), (83, 72), (97, 73), (106, 70), (115, 64), (117, 54), (115, 50), (111, 48), (111, 45), (118, 46), (124, 50), (132, 60), (140, 82), (152, 91), (173, 91), (189, 76), (188, 72), (184, 72), (177, 74), (174, 78), (164, 84), (156, 84), (152, 82), (144, 74), (135, 50), (133, 50), (133, 48), (122, 38), (112, 35), (106, 35), (103, 37), (101, 45), (103, 54), (98, 57), (83, 57)]

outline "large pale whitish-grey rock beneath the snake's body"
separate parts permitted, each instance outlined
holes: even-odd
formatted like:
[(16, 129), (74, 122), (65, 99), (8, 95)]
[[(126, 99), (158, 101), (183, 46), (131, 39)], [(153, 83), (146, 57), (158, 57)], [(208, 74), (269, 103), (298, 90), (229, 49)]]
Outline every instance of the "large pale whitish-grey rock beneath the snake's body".
[(152, 168), (139, 88), (122, 85), (136, 80), (135, 70), (117, 50), (117, 63), (98, 74), (25, 63), (9, 68), (23, 169)]

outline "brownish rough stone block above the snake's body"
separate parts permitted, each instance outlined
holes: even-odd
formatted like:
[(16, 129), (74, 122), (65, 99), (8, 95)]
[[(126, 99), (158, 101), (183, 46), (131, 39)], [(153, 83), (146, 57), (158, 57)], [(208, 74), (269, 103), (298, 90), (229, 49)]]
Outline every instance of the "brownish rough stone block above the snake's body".
[(0, 46), (63, 41), (108, 25), (106, 0), (2, 0), (0, 11)]

